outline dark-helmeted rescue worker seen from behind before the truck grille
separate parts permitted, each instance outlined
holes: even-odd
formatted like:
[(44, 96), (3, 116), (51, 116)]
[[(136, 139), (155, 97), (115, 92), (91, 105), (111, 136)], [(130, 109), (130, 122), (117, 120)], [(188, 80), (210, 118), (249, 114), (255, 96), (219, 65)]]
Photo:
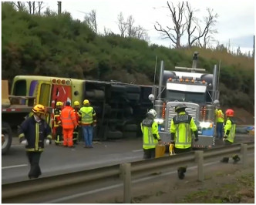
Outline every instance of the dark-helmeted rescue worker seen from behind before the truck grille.
[[(175, 106), (177, 116), (173, 116), (170, 122), (170, 143), (174, 144), (175, 153), (187, 153), (192, 150), (192, 132), (195, 136), (194, 140), (198, 140), (197, 125), (193, 117), (186, 113), (186, 107), (184, 103), (177, 104)], [(177, 173), (180, 180), (184, 179), (186, 170), (187, 166), (178, 167)]]

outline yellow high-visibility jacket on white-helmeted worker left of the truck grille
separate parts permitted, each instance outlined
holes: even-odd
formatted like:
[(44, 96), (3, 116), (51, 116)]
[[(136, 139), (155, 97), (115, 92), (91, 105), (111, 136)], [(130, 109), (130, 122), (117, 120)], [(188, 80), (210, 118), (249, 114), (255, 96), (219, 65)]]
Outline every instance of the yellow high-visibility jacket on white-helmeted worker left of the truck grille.
[[(148, 150), (156, 148), (160, 140), (158, 124), (154, 122), (153, 119), (146, 118), (140, 123), (140, 127), (143, 133), (143, 149)], [(157, 136), (157, 139), (155, 139), (153, 135)]]

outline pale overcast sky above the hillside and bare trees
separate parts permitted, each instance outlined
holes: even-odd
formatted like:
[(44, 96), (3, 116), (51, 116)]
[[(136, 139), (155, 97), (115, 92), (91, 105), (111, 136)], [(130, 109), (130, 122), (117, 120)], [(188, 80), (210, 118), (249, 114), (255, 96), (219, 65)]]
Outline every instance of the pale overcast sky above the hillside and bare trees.
[[(177, 5), (178, 1), (173, 2)], [(254, 0), (191, 0), (190, 5), (199, 11), (195, 14), (197, 18), (203, 19), (207, 15), (206, 8), (214, 9), (217, 13), (217, 34), (214, 35), (220, 43), (237, 46), (252, 50), (254, 39)], [(45, 2), (52, 11), (57, 12), (57, 2)], [(117, 16), (123, 12), (126, 19), (132, 15), (135, 19), (134, 25), (141, 25), (150, 35), (150, 42), (158, 45), (170, 45), (168, 41), (161, 39), (160, 32), (157, 32), (153, 25), (160, 22), (161, 25), (170, 26), (170, 10), (167, 8), (167, 0), (73, 0), (62, 1), (62, 12), (70, 12), (72, 18), (83, 21), (84, 16), (96, 10), (96, 21), (99, 32), (110, 29), (119, 34)]]

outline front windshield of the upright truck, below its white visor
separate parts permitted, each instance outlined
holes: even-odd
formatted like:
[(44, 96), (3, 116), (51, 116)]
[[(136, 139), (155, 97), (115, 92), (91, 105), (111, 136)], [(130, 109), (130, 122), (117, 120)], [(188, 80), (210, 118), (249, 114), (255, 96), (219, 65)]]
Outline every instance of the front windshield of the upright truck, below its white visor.
[(167, 100), (180, 102), (205, 103), (206, 97), (204, 92), (182, 92), (167, 89)]

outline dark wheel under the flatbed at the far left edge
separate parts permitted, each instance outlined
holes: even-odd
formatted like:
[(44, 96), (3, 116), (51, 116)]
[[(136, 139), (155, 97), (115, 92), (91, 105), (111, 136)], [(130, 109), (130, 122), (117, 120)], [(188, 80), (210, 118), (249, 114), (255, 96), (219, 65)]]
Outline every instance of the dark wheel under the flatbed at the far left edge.
[(8, 123), (2, 122), (2, 154), (5, 154), (12, 145), (12, 129)]

